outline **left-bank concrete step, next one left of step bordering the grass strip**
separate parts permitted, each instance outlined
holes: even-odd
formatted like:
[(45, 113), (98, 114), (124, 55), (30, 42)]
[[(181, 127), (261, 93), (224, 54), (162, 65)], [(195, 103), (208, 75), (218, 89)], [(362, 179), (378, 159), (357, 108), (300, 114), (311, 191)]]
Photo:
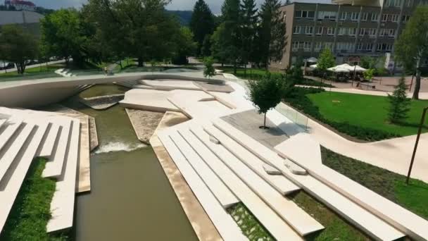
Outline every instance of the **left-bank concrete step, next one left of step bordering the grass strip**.
[[(25, 149), (27, 149), (28, 143), (26, 140), (30, 137), (34, 127), (34, 123), (25, 123), (25, 126), (21, 131), (15, 132), (16, 138), (13, 139), (13, 142), (6, 146), (8, 149), (0, 158), (0, 182), (3, 180), (4, 175), (8, 171), (11, 163), (15, 160), (18, 153), (25, 152)], [(39, 147), (39, 143), (37, 143), (37, 147)]]

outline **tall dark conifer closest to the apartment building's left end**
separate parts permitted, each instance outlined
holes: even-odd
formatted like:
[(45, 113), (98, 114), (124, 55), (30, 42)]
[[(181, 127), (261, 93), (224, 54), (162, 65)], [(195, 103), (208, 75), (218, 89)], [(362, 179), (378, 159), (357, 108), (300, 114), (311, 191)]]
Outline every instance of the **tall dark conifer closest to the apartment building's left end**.
[(281, 61), (287, 39), (279, 0), (265, 0), (260, 8), (260, 54), (267, 68), (271, 61)]

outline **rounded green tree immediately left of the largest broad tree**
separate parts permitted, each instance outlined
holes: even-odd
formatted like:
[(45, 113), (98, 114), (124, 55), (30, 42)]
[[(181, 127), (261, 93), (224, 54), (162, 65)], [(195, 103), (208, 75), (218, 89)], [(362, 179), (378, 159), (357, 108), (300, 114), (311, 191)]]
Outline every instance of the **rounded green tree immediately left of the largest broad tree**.
[(70, 56), (73, 63), (81, 66), (86, 57), (88, 36), (80, 13), (75, 9), (61, 9), (46, 16), (42, 23), (42, 44), (51, 56), (65, 58), (68, 62)]

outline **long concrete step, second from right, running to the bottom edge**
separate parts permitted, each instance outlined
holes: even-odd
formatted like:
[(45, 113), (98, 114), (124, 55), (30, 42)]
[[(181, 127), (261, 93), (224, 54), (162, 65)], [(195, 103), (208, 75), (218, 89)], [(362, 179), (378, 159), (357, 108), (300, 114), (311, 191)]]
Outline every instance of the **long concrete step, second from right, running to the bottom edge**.
[(404, 236), (403, 233), (396, 230), (381, 218), (363, 209), (358, 204), (347, 199), (339, 192), (334, 191), (332, 188), (321, 183), (310, 175), (295, 175), (291, 173), (288, 168), (284, 166), (284, 159), (280, 158), (275, 152), (253, 140), (248, 135), (232, 127), (222, 120), (213, 121), (215, 126), (220, 128), (229, 137), (232, 137), (236, 142), (243, 145), (249, 151), (253, 152), (256, 156), (266, 163), (274, 166), (282, 172), (289, 180), (296, 183), (315, 197), (318, 201), (327, 205), (330, 209), (336, 211), (339, 215), (345, 218), (356, 227), (363, 230), (367, 235), (370, 235), (377, 240), (396, 240)]

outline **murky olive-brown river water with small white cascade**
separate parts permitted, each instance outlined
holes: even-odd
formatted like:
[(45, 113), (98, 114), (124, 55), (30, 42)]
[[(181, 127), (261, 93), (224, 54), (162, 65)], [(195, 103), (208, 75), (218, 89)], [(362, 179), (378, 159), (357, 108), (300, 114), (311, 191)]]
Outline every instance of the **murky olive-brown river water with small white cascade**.
[[(96, 85), (94, 97), (126, 91)], [(96, 118), (99, 148), (91, 154), (91, 189), (77, 196), (75, 240), (197, 240), (151, 147), (137, 140), (121, 106), (94, 111), (70, 99), (63, 104)]]

